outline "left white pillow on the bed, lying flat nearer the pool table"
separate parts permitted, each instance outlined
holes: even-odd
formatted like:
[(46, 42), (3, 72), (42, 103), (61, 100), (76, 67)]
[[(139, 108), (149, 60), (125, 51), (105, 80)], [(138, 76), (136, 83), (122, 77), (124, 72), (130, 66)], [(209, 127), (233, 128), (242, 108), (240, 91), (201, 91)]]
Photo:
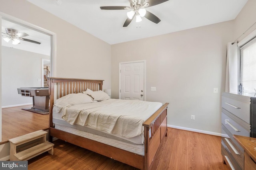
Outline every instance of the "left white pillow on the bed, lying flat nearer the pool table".
[(83, 93), (72, 93), (57, 99), (54, 105), (76, 105), (94, 102), (90, 96)]

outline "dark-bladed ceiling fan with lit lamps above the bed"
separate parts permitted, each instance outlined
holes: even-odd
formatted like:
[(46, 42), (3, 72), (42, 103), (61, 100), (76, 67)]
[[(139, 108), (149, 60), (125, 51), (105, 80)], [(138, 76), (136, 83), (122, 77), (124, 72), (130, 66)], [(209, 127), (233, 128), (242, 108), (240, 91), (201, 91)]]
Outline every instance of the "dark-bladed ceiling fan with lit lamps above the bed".
[(161, 20), (145, 8), (150, 6), (155, 6), (166, 2), (168, 0), (129, 0), (130, 6), (101, 6), (101, 10), (131, 10), (127, 12), (128, 18), (124, 22), (123, 27), (127, 27), (134, 17), (136, 17), (136, 22), (142, 21), (141, 17), (145, 17), (148, 20), (159, 23)]

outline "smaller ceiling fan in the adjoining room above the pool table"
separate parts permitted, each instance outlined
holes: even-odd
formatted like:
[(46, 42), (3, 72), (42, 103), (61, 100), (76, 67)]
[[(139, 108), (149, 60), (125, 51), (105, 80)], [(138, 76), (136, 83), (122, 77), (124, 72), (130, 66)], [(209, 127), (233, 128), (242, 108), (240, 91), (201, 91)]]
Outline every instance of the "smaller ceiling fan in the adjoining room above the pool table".
[(27, 33), (19, 33), (16, 29), (6, 28), (5, 31), (6, 31), (6, 33), (2, 32), (2, 34), (3, 34), (2, 36), (4, 37), (4, 41), (6, 41), (7, 43), (10, 40), (12, 40), (12, 44), (17, 45), (20, 43), (20, 40), (23, 40), (23, 41), (28, 41), (30, 43), (41, 44), (37, 41), (23, 38), (23, 37), (28, 36), (28, 34)]

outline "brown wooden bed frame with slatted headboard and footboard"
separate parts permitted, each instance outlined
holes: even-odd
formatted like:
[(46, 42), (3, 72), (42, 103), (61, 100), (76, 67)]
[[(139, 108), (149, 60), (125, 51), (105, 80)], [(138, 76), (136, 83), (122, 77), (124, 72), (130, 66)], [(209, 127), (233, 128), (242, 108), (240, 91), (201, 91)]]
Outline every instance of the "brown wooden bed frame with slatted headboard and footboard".
[(118, 160), (130, 166), (134, 166), (141, 170), (150, 170), (151, 164), (154, 162), (154, 156), (160, 147), (163, 138), (167, 136), (168, 103), (160, 107), (160, 109), (158, 109), (143, 123), (145, 148), (144, 156), (54, 128), (54, 123), (52, 122), (54, 100), (61, 98), (62, 96), (66, 96), (67, 94), (83, 92), (87, 88), (90, 88), (92, 91), (102, 90), (103, 81), (104, 80), (48, 78), (47, 83), (50, 94), (49, 140), (52, 141), (52, 137), (56, 137), (114, 160)]

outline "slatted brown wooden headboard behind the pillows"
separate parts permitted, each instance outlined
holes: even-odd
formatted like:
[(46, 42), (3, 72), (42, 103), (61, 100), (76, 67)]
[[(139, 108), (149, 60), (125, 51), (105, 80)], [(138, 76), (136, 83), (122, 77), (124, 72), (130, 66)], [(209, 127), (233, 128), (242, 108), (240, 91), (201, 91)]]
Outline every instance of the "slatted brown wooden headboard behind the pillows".
[(50, 94), (50, 127), (52, 127), (52, 108), (54, 100), (71, 93), (81, 93), (89, 88), (92, 91), (102, 90), (104, 80), (87, 80), (75, 78), (56, 78), (48, 77), (47, 84)]

